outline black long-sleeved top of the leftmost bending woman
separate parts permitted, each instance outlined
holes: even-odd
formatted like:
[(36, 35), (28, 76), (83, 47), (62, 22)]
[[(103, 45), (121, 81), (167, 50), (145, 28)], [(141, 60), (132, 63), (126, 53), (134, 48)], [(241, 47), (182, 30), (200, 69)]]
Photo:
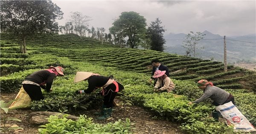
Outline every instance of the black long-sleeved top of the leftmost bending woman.
[(50, 91), (52, 88), (52, 82), (56, 75), (47, 70), (35, 71), (33, 74), (30, 74), (25, 78), (27, 81), (32, 81), (40, 85), (41, 83), (46, 83), (46, 90)]

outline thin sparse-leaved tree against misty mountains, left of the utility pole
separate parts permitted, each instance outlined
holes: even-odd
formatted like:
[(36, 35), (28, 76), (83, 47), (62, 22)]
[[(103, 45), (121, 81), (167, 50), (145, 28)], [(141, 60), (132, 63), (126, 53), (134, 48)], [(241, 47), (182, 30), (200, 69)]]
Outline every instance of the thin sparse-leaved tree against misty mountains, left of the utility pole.
[[(200, 40), (204, 39), (205, 35), (206, 34), (202, 34), (201, 32), (194, 33), (193, 31), (190, 31), (190, 33), (186, 35), (185, 41), (182, 42), (184, 44), (183, 47), (186, 48), (195, 57), (195, 50), (198, 49), (197, 44)], [(186, 53), (188, 54), (188, 52)]]

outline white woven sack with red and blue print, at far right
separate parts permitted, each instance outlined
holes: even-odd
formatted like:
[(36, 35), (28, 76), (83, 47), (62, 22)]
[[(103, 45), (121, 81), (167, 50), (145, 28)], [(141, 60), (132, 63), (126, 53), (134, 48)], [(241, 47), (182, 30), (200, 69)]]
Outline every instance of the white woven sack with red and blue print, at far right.
[(246, 117), (244, 117), (232, 102), (219, 105), (215, 107), (215, 109), (227, 120), (227, 125), (234, 125), (234, 131), (256, 131), (253, 125), (246, 119)]

